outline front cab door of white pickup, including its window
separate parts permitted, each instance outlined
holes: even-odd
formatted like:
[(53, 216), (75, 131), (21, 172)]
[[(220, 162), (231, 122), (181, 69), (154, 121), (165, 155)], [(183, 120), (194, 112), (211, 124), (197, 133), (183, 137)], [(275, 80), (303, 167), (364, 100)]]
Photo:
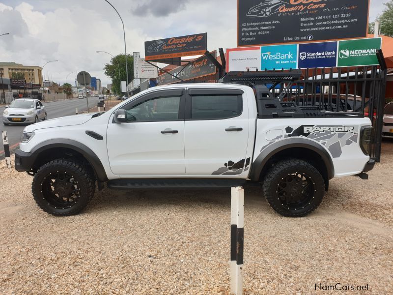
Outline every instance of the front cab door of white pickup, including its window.
[(112, 173), (123, 177), (184, 176), (185, 89), (149, 92), (123, 107), (126, 123), (107, 129)]

